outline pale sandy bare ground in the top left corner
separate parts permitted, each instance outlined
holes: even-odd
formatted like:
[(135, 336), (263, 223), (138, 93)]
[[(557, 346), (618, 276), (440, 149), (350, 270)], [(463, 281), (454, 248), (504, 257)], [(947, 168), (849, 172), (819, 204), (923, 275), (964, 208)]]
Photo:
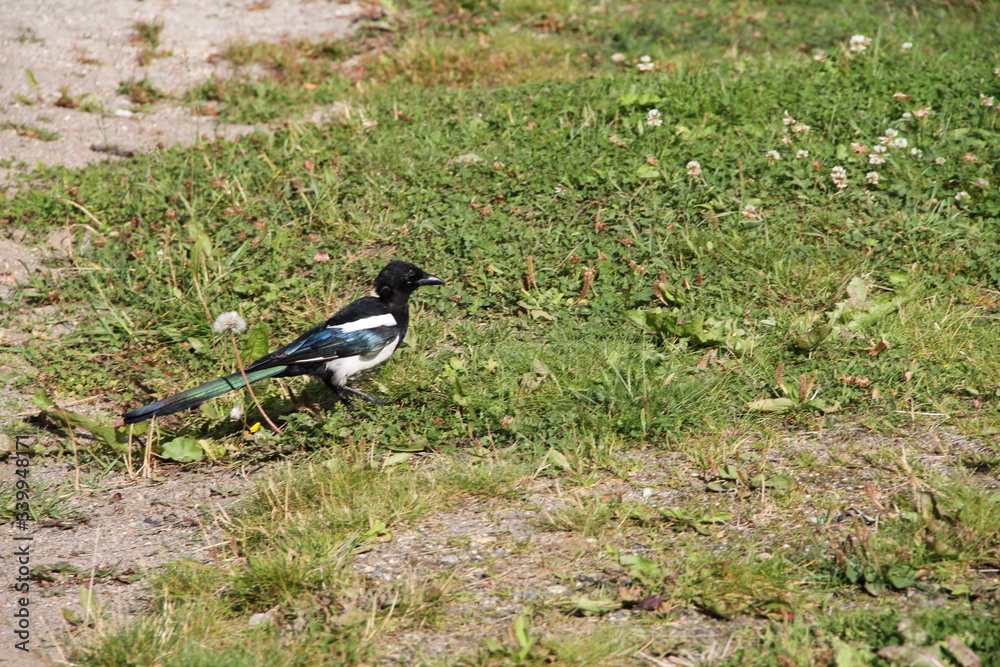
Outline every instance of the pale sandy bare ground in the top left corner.
[[(6, 129), (0, 130), (0, 160), (14, 164), (0, 168), (0, 190), (9, 185), (12, 170), (36, 162), (80, 167), (109, 159), (91, 150), (93, 144), (149, 151), (202, 135), (249, 132), (251, 126), (194, 116), (177, 100), (137, 112), (117, 91), (123, 81), (148, 78), (165, 94), (177, 95), (222, 73), (224, 65), (213, 64), (211, 56), (227, 42), (340, 38), (360, 12), (356, 3), (325, 0), (5, 3), (0, 125)], [(162, 25), (159, 46), (145, 65), (139, 59), (145, 45), (136, 37), (140, 24)]]

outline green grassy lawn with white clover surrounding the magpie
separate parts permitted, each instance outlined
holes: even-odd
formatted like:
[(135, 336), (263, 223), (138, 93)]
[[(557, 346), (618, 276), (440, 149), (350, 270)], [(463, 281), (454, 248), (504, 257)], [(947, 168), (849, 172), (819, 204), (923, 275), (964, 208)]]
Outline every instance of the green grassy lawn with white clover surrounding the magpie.
[[(285, 460), (81, 664), (1000, 664), (995, 4), (412, 3), (226, 57), (183, 98), (280, 126), (0, 213), (83, 248), (0, 315), (74, 323), (6, 353), (78, 455)], [(255, 358), (392, 257), (448, 285), (387, 405), (114, 427), (235, 369), (218, 313)]]

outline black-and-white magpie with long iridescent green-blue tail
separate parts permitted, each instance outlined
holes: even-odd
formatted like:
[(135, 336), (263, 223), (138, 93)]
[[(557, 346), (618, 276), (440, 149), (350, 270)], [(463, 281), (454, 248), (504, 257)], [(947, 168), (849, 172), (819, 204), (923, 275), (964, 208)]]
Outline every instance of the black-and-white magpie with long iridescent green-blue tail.
[[(444, 285), (423, 269), (393, 260), (375, 278), (375, 294), (354, 301), (325, 322), (294, 341), (232, 373), (199, 387), (162, 398), (126, 412), (126, 424), (173, 414), (201, 405), (210, 398), (240, 389), (266, 378), (312, 375), (342, 400), (354, 394), (366, 401), (379, 399), (347, 386), (347, 380), (382, 363), (396, 351), (410, 323), (407, 301), (418, 287)], [(246, 379), (244, 379), (244, 374)]]

